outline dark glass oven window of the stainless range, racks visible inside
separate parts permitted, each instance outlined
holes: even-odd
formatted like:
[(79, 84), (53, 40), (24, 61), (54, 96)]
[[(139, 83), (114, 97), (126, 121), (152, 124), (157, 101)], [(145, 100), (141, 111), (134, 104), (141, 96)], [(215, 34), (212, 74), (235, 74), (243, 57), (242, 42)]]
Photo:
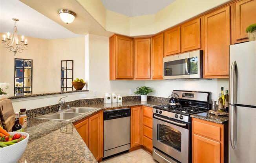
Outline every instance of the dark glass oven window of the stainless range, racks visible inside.
[(181, 152), (181, 132), (179, 130), (157, 124), (157, 140)]

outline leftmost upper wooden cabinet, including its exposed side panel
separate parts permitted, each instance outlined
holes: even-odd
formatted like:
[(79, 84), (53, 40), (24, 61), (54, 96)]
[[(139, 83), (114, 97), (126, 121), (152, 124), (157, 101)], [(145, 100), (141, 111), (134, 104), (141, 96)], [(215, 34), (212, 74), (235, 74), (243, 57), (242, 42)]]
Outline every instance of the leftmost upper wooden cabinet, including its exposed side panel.
[(133, 38), (110, 37), (110, 80), (133, 80)]

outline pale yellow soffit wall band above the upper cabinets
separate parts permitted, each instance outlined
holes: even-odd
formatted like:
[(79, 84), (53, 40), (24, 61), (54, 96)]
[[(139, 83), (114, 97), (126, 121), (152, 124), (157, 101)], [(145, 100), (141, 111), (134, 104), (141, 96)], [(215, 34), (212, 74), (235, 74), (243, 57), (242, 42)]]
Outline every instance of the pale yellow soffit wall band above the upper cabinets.
[(127, 36), (159, 33), (230, 0), (176, 0), (155, 14), (125, 16), (107, 10), (100, 0), (77, 0), (106, 30)]

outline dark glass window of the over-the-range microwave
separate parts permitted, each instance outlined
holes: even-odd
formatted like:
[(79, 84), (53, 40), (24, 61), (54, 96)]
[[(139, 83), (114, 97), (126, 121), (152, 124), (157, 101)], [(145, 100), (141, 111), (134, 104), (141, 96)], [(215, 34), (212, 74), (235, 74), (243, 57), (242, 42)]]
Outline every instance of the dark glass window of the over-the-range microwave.
[(165, 76), (187, 75), (186, 60), (165, 62)]

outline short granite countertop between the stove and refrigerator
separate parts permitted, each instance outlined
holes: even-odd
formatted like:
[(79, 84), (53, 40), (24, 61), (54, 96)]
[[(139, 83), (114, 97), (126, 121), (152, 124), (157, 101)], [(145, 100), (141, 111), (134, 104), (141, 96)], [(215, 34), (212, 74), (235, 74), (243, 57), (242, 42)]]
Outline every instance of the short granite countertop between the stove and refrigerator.
[(210, 114), (208, 111), (197, 113), (197, 114), (192, 114), (192, 115), (190, 115), (190, 117), (197, 118), (200, 120), (210, 121), (210, 122), (214, 122), (214, 123), (219, 123), (219, 124), (225, 124), (225, 123), (228, 123), (228, 121), (229, 121), (228, 116), (216, 116), (215, 114)]

